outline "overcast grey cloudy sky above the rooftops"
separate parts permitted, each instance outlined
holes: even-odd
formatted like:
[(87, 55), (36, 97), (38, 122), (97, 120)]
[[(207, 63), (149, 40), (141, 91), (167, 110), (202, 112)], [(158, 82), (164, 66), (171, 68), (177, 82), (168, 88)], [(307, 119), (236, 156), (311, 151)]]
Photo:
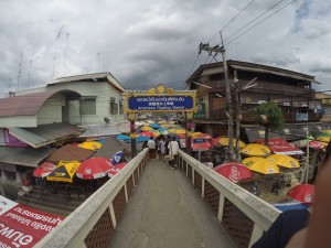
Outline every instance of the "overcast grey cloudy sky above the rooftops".
[(325, 0), (0, 0), (0, 97), (96, 72), (128, 89), (183, 88), (215, 62), (197, 46), (220, 44), (221, 30), (227, 58), (310, 74), (331, 89)]

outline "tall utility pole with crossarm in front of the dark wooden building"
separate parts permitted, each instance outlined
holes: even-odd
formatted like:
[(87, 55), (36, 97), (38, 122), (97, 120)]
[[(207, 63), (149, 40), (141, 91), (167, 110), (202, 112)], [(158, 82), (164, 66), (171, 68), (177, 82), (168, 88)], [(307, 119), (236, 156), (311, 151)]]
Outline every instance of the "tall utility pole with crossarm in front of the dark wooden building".
[[(222, 33), (221, 33), (221, 39), (222, 39)], [(222, 39), (222, 44), (223, 44), (223, 39)], [(224, 71), (224, 79), (225, 79), (225, 87), (226, 87), (226, 110), (227, 110), (227, 130), (228, 130), (228, 159), (229, 161), (232, 162), (234, 160), (234, 150), (233, 150), (233, 106), (232, 106), (232, 94), (231, 94), (231, 82), (228, 80), (228, 74), (227, 74), (227, 64), (226, 64), (226, 56), (225, 56), (225, 48), (224, 48), (224, 45), (222, 45), (221, 47), (218, 45), (214, 46), (214, 47), (211, 47), (207, 44), (202, 44), (200, 43), (200, 52), (203, 50), (203, 51), (206, 51), (206, 52), (210, 52), (210, 54), (212, 53), (215, 53), (214, 56), (217, 55), (217, 53), (221, 53), (222, 54), (222, 57), (223, 57), (223, 71)]]

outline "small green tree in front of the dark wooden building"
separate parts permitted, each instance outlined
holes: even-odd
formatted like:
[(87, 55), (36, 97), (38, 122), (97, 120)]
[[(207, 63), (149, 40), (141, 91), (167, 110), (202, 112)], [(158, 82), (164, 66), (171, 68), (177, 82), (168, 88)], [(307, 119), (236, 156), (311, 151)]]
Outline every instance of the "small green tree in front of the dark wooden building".
[(265, 144), (268, 144), (269, 130), (277, 131), (284, 127), (284, 116), (278, 105), (273, 103), (261, 104), (255, 107), (255, 121), (265, 127)]

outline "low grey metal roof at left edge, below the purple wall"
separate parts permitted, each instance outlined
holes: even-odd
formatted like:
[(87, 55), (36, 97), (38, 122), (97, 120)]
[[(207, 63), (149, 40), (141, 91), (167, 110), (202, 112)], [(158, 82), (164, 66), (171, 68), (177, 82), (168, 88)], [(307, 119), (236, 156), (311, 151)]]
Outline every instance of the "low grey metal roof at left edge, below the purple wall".
[(55, 148), (9, 148), (0, 147), (0, 161), (4, 163), (36, 168)]

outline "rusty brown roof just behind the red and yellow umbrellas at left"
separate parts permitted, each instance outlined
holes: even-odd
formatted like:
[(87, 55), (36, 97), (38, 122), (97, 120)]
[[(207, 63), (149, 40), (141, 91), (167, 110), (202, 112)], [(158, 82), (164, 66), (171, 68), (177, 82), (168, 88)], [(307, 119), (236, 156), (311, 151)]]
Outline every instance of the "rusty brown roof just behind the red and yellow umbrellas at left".
[(73, 144), (65, 144), (58, 148), (56, 151), (52, 152), (45, 161), (57, 163), (60, 160), (63, 161), (83, 161), (90, 158), (94, 151), (79, 148)]

